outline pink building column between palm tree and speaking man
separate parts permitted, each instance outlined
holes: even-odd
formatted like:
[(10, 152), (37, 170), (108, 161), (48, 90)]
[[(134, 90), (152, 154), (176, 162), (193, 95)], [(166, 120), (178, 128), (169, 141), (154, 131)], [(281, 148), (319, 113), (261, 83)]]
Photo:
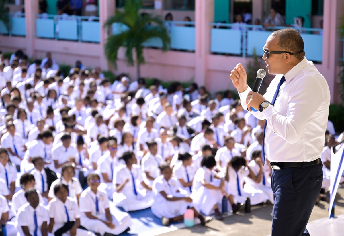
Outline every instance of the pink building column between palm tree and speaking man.
[(214, 0), (195, 1), (195, 78), (199, 86), (206, 86), (208, 55), (210, 54), (210, 30), (209, 23), (214, 22)]

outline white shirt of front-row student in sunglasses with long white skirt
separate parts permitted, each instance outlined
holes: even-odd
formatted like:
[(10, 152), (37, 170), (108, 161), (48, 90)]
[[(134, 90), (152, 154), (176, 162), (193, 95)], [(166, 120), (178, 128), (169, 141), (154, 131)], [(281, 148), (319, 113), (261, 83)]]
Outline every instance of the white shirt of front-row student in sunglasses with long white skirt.
[[(98, 209), (96, 211), (96, 198), (98, 198)], [(105, 214), (105, 209), (109, 208), (109, 199), (107, 193), (104, 190), (97, 189), (97, 193), (94, 193), (90, 187), (86, 188), (79, 198), (79, 209), (81, 217), (87, 217), (85, 212), (91, 212), (93, 216), (98, 219)]]

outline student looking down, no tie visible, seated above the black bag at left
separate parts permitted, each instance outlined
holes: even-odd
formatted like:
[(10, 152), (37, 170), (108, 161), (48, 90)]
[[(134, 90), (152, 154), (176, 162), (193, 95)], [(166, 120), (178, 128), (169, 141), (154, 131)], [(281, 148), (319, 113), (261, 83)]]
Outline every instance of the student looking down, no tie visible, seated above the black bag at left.
[(61, 173), (61, 166), (66, 163), (74, 163), (75, 164), (75, 154), (76, 149), (74, 146), (71, 146), (71, 135), (69, 133), (65, 133), (61, 137), (62, 143), (57, 144), (51, 150), (51, 158), (54, 161), (54, 167), (56, 173)]

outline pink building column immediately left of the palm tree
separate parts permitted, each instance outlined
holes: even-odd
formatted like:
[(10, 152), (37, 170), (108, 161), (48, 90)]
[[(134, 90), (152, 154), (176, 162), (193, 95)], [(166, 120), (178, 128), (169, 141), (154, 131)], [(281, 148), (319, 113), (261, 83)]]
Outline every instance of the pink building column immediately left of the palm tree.
[(108, 37), (107, 30), (103, 28), (106, 20), (114, 14), (116, 5), (114, 0), (101, 0), (99, 1), (99, 24), (100, 24), (100, 66), (103, 70), (109, 70), (109, 63), (105, 58), (104, 46)]

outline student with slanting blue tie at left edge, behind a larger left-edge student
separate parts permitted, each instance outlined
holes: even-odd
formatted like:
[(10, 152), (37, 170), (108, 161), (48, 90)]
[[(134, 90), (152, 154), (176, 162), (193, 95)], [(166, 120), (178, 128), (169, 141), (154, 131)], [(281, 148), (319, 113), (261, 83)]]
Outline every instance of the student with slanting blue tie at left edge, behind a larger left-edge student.
[(15, 132), (15, 126), (11, 121), (7, 123), (6, 128), (7, 133), (1, 137), (1, 147), (7, 149), (10, 160), (15, 165), (20, 165), (26, 146), (24, 146), (23, 139)]

